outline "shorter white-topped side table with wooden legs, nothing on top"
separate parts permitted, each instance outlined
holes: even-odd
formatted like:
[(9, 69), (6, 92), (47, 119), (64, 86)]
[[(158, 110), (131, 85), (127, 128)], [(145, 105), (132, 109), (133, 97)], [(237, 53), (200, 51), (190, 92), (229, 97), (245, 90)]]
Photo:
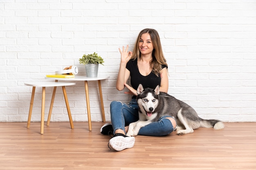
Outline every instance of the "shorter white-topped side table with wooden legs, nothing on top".
[(69, 105), (68, 100), (67, 100), (67, 93), (66, 93), (65, 86), (75, 85), (76, 83), (43, 82), (43, 81), (37, 81), (36, 82), (36, 81), (33, 81), (33, 82), (25, 82), (24, 84), (28, 85), (28, 86), (33, 86), (32, 94), (31, 94), (31, 100), (30, 100), (30, 107), (29, 107), (29, 117), (28, 117), (28, 120), (27, 120), (27, 128), (29, 128), (29, 126), (30, 126), (30, 120), (31, 120), (31, 114), (32, 114), (32, 108), (33, 108), (33, 102), (34, 102), (36, 87), (42, 87), (42, 108), (41, 108), (41, 130), (40, 130), (40, 134), (43, 134), (44, 121), (45, 121), (44, 120), (44, 117), (45, 117), (45, 87), (54, 87), (54, 92), (52, 93), (52, 101), (51, 101), (51, 105), (50, 105), (50, 109), (49, 109), (49, 115), (48, 115), (48, 119), (47, 119), (47, 126), (49, 126), (51, 115), (52, 115), (52, 107), (53, 107), (56, 87), (57, 86), (62, 86), (62, 90), (63, 90), (63, 94), (64, 94), (66, 106), (67, 106), (67, 113), (68, 113), (68, 117), (70, 119), (70, 126), (71, 126), (71, 129), (74, 129), (72, 116), (71, 116), (71, 112), (70, 112), (70, 105)]

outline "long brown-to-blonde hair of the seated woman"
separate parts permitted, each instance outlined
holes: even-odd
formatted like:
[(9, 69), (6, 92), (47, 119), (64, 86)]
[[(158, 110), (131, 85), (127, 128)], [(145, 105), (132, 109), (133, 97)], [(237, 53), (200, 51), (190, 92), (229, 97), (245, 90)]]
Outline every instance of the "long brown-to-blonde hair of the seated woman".
[(159, 35), (155, 29), (146, 28), (139, 32), (139, 35), (135, 42), (134, 50), (132, 53), (132, 59), (139, 60), (139, 57), (140, 57), (139, 40), (141, 38), (141, 35), (144, 33), (148, 33), (150, 35), (150, 38), (151, 38), (151, 41), (152, 41), (153, 47), (154, 47), (153, 52), (152, 52), (153, 59), (150, 61), (150, 67), (152, 68), (153, 73), (155, 75), (159, 76), (160, 71), (162, 70), (162, 64), (166, 65), (166, 66), (168, 66), (168, 65), (166, 63), (166, 59), (164, 58)]

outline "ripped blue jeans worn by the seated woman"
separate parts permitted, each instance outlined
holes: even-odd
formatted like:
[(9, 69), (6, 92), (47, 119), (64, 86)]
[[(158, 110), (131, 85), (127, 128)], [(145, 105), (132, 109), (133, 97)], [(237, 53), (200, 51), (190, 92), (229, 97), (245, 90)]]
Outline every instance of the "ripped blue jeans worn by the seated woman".
[[(110, 104), (110, 116), (111, 123), (114, 129), (114, 132), (117, 129), (124, 130), (125, 126), (128, 126), (132, 122), (136, 122), (139, 120), (138, 113), (138, 104), (136, 99), (132, 99), (127, 105), (124, 102), (120, 101), (112, 101)], [(173, 124), (170, 120), (165, 119), (164, 116), (159, 118), (157, 122), (152, 122), (139, 130), (138, 135), (147, 135), (147, 136), (164, 136), (168, 135), (172, 131), (174, 131)]]

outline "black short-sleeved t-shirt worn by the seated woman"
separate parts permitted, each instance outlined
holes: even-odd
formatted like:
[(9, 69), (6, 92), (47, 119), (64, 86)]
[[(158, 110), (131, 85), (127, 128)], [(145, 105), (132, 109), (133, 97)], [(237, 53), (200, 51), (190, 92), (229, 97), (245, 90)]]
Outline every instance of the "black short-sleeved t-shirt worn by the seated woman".
[[(147, 76), (143, 76), (139, 73), (139, 68), (137, 66), (137, 59), (133, 60), (130, 59), (128, 63), (126, 64), (126, 68), (130, 71), (130, 82), (131, 86), (137, 90), (139, 87), (139, 84), (143, 86), (143, 88), (151, 88), (155, 89), (157, 85), (160, 86), (161, 84), (161, 77), (156, 76), (153, 72), (148, 74)], [(162, 65), (163, 68), (168, 68), (167, 65)]]

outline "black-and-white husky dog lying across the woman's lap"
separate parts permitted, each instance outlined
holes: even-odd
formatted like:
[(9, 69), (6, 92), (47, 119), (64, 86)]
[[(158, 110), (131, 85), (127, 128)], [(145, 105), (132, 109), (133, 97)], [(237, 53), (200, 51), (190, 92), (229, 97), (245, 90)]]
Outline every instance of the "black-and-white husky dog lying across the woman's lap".
[(177, 100), (167, 93), (155, 89), (143, 89), (140, 84), (137, 89), (137, 102), (139, 105), (139, 120), (129, 125), (127, 136), (136, 136), (141, 127), (156, 122), (162, 116), (172, 116), (176, 122), (178, 135), (193, 133), (199, 127), (219, 130), (224, 124), (219, 120), (204, 120), (198, 117), (195, 110), (186, 103)]

